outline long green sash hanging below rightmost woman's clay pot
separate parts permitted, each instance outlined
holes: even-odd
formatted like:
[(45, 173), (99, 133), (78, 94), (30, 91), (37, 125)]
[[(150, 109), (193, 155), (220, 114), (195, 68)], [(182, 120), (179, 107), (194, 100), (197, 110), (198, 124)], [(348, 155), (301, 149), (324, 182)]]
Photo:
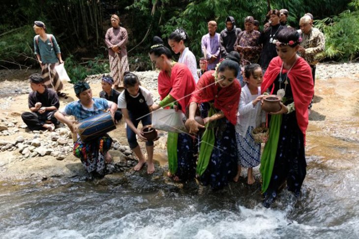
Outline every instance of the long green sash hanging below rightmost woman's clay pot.
[(273, 172), (273, 166), (275, 161), (275, 156), (278, 148), (278, 140), (280, 133), (280, 125), (282, 124), (282, 115), (273, 114), (270, 118), (269, 123), (269, 138), (264, 146), (262, 158), (261, 158), (261, 166), (259, 171), (262, 174), (262, 193), (266, 192), (270, 178)]

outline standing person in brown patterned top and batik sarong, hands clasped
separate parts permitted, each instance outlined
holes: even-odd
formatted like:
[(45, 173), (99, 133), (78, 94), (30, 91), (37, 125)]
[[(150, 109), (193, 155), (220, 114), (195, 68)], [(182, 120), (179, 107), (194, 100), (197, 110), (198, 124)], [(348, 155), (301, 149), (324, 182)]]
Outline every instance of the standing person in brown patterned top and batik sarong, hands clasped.
[(111, 25), (105, 35), (111, 75), (114, 79), (114, 88), (123, 89), (123, 73), (129, 71), (126, 50), (127, 30), (120, 27), (120, 18), (115, 14), (111, 16)]

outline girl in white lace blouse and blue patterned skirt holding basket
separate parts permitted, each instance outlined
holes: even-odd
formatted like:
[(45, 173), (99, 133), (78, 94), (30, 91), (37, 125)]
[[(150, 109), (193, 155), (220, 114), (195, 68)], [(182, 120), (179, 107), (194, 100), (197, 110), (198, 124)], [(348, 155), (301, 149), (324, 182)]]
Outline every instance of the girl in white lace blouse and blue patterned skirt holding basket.
[(236, 125), (237, 148), (239, 154), (238, 173), (234, 178), (238, 182), (241, 167), (248, 168), (247, 183), (255, 182), (253, 167), (261, 161), (261, 144), (256, 143), (252, 136), (252, 130), (256, 127), (264, 127), (266, 124), (266, 112), (261, 108), (261, 83), (263, 81), (262, 68), (258, 64), (247, 65), (244, 69), (244, 81), (240, 93), (238, 106), (238, 120)]

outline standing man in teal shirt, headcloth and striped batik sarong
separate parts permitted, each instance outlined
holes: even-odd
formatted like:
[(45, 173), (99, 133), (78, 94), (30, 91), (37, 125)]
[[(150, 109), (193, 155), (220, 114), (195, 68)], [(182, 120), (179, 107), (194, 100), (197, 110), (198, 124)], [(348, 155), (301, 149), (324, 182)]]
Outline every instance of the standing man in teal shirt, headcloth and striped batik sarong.
[(44, 84), (49, 89), (55, 90), (59, 96), (65, 97), (66, 94), (60, 92), (63, 86), (55, 69), (55, 66), (63, 63), (59, 44), (54, 35), (46, 34), (43, 22), (35, 21), (33, 30), (37, 34), (33, 38), (34, 53), (41, 66)]

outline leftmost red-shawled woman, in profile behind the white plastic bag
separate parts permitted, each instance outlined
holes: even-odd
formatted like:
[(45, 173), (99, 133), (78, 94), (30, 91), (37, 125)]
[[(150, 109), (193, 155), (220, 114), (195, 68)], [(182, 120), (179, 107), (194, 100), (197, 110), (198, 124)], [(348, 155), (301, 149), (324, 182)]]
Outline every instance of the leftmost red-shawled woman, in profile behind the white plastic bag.
[[(151, 109), (171, 106), (185, 113), (191, 93), (195, 89), (195, 80), (191, 71), (182, 63), (171, 60), (170, 49), (164, 46), (158, 36), (153, 38), (150, 58), (153, 64), (161, 70), (158, 75), (158, 93), (161, 102), (153, 104)], [(195, 177), (196, 158), (194, 142), (186, 133), (168, 133), (167, 154), (169, 176), (177, 181), (187, 181)]]

